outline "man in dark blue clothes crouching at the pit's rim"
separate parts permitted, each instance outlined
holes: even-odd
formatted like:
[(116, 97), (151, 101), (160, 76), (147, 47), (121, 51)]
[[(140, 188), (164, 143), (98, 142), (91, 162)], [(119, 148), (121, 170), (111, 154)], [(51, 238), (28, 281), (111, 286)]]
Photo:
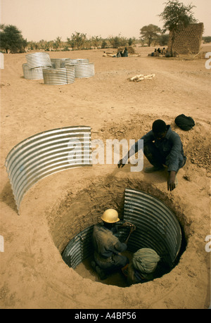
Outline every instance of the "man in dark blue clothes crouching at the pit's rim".
[[(173, 191), (176, 187), (177, 172), (186, 163), (179, 134), (172, 131), (170, 125), (158, 119), (153, 122), (152, 130), (141, 139), (143, 139), (143, 153), (153, 165), (146, 167), (144, 171), (149, 173), (164, 170), (166, 165), (169, 172), (167, 189)], [(138, 143), (139, 141), (136, 141), (127, 155), (119, 161), (119, 168), (124, 167), (128, 158), (138, 151)]]

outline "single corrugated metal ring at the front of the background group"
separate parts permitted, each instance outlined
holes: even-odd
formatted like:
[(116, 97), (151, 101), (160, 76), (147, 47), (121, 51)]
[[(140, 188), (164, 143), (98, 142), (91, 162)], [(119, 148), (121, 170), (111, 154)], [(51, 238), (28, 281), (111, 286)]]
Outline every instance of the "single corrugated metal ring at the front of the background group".
[(44, 68), (44, 84), (60, 85), (75, 82), (75, 67), (67, 65), (65, 68)]

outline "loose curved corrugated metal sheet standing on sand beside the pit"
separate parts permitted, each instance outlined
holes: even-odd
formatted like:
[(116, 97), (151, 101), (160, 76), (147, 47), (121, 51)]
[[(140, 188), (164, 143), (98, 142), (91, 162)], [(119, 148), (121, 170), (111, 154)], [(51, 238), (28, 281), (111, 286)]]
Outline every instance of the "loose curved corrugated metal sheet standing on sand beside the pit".
[(64, 127), (35, 134), (13, 147), (5, 165), (19, 211), (24, 194), (40, 179), (92, 165), (91, 128)]

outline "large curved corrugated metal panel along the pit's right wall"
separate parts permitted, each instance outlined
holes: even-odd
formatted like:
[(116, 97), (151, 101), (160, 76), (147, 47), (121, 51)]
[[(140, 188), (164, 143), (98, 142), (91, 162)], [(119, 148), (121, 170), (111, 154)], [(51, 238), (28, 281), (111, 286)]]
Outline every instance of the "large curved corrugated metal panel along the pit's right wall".
[(181, 227), (170, 208), (158, 198), (125, 189), (124, 220), (136, 225), (128, 248), (153, 248), (172, 267), (181, 248)]

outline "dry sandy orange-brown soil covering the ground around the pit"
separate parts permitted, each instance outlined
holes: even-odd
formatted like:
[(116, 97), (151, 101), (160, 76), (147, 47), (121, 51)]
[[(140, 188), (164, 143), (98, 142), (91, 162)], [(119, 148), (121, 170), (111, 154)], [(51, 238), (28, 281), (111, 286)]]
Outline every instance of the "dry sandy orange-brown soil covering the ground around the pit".
[[(5, 54), (1, 70), (0, 307), (74, 309), (205, 309), (210, 306), (210, 70), (205, 59), (103, 57), (103, 50), (50, 52), (51, 58), (89, 58), (95, 76), (60, 86), (25, 80), (25, 53)], [(211, 51), (205, 46), (203, 51)], [(152, 80), (129, 82), (139, 74)], [(190, 115), (184, 132), (174, 118)], [(166, 173), (146, 175), (117, 165), (65, 170), (41, 179), (25, 194), (18, 215), (4, 166), (23, 139), (58, 127), (87, 125), (92, 139), (139, 139), (161, 118), (184, 144), (187, 163), (177, 189), (167, 191)], [(148, 162), (144, 159), (144, 165)], [(108, 207), (122, 211), (124, 188), (157, 196), (184, 228), (186, 251), (159, 279), (130, 287), (99, 281), (82, 263), (76, 270), (61, 252), (75, 234), (99, 222)]]

